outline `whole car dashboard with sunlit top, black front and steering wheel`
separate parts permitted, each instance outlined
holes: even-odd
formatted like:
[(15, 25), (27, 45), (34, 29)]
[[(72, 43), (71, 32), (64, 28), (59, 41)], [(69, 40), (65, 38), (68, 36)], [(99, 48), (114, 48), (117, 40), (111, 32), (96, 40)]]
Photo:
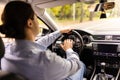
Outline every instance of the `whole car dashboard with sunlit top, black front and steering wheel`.
[[(116, 77), (119, 80), (120, 75), (120, 19), (115, 20), (100, 20), (96, 22), (89, 22), (85, 24), (72, 26), (77, 34), (63, 34), (52, 45), (52, 50), (58, 55), (66, 58), (65, 52), (60, 48), (60, 43), (64, 39), (73, 39), (75, 42), (73, 50), (76, 51), (80, 60), (83, 61), (87, 68), (88, 80), (93, 80), (95, 74), (101, 72), (102, 63), (106, 65), (105, 70), (107, 74)], [(116, 22), (116, 23), (115, 23)], [(81, 43), (81, 40), (83, 43)], [(81, 48), (81, 45), (83, 48)], [(82, 49), (82, 50), (81, 50)], [(92, 75), (91, 75), (92, 74)], [(90, 79), (91, 78), (91, 79)], [(110, 79), (111, 80), (111, 79)]]

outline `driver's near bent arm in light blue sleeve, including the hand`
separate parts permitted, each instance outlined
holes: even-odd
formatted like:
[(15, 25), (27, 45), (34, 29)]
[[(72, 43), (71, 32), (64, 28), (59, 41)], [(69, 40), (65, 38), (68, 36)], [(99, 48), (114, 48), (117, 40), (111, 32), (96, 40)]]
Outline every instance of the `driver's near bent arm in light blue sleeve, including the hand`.
[[(55, 75), (55, 80), (61, 80), (66, 78), (79, 70), (81, 67), (80, 60), (76, 52), (72, 50), (73, 41), (67, 39), (61, 45), (61, 47), (66, 51), (67, 59), (57, 56), (55, 53), (47, 52), (47, 58), (49, 60), (49, 65), (46, 74)], [(53, 77), (53, 76), (49, 76)]]

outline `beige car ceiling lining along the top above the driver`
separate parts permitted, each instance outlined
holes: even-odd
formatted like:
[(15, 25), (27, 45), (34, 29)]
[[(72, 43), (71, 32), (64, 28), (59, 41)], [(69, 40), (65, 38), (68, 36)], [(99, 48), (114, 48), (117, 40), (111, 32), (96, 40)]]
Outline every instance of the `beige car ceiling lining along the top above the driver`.
[[(0, 0), (1, 2), (8, 2), (8, 1), (14, 1), (14, 0)], [(19, 1), (25, 1), (29, 2), (31, 4), (37, 5), (40, 8), (50, 8), (55, 6), (62, 6), (65, 4), (72, 4), (76, 2), (94, 2), (96, 0), (19, 0)]]

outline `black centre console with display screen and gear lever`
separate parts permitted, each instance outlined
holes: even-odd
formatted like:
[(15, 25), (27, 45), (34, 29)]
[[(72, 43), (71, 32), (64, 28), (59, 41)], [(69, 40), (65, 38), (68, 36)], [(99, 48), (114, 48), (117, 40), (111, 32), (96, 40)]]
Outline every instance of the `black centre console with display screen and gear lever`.
[(95, 68), (91, 80), (119, 80), (120, 43), (93, 42)]

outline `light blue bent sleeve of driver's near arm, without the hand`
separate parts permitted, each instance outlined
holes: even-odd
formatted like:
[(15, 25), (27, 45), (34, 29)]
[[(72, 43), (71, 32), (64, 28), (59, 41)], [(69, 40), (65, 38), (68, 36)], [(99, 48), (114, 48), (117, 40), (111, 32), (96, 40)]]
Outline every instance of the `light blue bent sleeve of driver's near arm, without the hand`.
[[(76, 73), (78, 69), (80, 69), (80, 60), (74, 51), (68, 56), (67, 59), (61, 58), (56, 55), (56, 53), (51, 53), (50, 51), (46, 52), (46, 74), (49, 79), (54, 78), (52, 80), (62, 80), (67, 78), (68, 76)], [(44, 58), (44, 57), (43, 57)], [(44, 58), (45, 59), (45, 58)]]

